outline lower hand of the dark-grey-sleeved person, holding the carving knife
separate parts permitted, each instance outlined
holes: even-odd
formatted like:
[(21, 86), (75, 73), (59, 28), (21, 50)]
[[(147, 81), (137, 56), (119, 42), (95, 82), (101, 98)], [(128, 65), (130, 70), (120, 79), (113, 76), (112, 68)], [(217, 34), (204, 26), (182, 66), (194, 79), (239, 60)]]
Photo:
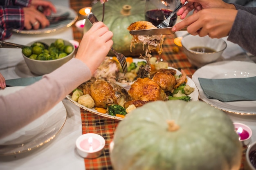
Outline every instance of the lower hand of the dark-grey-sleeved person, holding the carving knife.
[(172, 31), (179, 31), (188, 26), (187, 31), (200, 37), (222, 38), (229, 35), (237, 10), (211, 8), (202, 9), (173, 26)]

